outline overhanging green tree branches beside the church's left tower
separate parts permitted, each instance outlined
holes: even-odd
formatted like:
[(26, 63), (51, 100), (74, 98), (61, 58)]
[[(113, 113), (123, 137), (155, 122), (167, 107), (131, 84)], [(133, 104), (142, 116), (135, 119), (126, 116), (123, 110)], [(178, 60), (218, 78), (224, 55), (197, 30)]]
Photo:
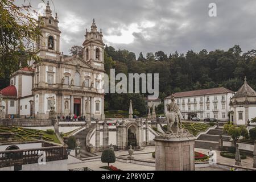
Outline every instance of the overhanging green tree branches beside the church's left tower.
[(30, 5), (0, 1), (0, 78), (9, 78), (19, 68), (27, 67), (28, 60), (39, 61), (36, 42), (41, 35), (41, 24), (31, 13), (36, 12)]

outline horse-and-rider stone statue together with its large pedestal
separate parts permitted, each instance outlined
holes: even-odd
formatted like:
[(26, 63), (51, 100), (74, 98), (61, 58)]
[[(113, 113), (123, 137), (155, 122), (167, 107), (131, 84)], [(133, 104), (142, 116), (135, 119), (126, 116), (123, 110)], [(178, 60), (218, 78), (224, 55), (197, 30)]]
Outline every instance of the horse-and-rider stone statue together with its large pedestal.
[(167, 131), (154, 138), (156, 171), (195, 170), (195, 137), (182, 128), (174, 97), (167, 108)]

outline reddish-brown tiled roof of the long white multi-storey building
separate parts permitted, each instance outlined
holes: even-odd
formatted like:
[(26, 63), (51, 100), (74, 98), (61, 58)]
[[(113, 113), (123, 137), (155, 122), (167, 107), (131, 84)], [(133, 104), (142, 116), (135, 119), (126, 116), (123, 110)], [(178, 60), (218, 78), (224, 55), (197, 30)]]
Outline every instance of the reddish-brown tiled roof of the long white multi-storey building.
[[(176, 98), (176, 97), (204, 96), (204, 95), (219, 94), (219, 93), (234, 93), (234, 92), (224, 87), (220, 87), (220, 88), (203, 89), (203, 90), (192, 90), (187, 92), (177, 92), (174, 94), (174, 97)], [(171, 96), (168, 96), (166, 98), (171, 98)]]

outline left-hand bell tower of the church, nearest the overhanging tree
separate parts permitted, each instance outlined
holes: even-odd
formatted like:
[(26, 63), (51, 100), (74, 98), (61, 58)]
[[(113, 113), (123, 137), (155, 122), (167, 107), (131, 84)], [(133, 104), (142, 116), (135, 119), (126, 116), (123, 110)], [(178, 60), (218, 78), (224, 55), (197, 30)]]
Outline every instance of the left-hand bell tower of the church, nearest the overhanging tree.
[(47, 2), (46, 12), (38, 18), (38, 26), (42, 32), (42, 36), (38, 39), (37, 48), (38, 55), (41, 58), (59, 61), (60, 57), (60, 34), (59, 20), (57, 13), (55, 18), (52, 16), (52, 10)]

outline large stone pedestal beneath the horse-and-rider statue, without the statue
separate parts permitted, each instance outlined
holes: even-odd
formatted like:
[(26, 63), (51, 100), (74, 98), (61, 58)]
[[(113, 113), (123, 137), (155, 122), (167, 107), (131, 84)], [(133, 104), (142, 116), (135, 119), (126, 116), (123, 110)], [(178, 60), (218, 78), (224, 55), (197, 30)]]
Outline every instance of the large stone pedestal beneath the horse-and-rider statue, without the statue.
[(155, 137), (156, 171), (194, 171), (195, 139), (190, 133)]

